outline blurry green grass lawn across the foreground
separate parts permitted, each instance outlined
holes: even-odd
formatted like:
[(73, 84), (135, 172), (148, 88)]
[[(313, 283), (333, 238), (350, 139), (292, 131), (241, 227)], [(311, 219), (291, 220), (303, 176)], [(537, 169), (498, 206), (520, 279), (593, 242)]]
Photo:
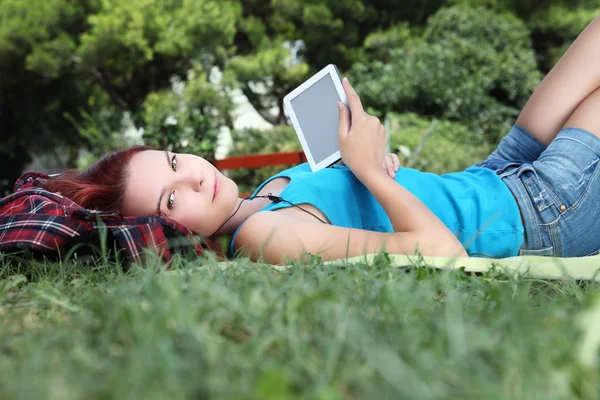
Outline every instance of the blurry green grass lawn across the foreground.
[(2, 399), (593, 399), (597, 283), (0, 260)]

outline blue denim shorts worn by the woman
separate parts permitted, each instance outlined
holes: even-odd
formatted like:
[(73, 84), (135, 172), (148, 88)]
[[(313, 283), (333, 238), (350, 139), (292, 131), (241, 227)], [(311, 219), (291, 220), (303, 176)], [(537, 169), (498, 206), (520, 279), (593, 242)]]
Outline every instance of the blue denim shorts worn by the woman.
[(548, 147), (514, 126), (483, 162), (506, 183), (521, 211), (519, 255), (600, 253), (600, 138), (562, 129)]

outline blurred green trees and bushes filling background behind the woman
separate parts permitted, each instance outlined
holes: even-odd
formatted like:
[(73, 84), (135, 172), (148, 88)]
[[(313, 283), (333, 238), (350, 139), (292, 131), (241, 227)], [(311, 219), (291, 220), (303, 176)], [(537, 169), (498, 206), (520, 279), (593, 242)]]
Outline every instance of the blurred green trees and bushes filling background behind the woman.
[[(0, 184), (146, 143), (299, 150), (283, 97), (329, 63), (404, 165), (484, 158), (600, 0), (0, 0)], [(242, 190), (284, 167), (230, 171)]]

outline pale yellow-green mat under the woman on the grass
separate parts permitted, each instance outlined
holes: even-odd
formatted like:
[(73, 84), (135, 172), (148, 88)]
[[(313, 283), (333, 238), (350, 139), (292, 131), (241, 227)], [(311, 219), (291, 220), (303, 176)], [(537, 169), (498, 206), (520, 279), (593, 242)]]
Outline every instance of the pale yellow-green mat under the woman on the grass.
[[(353, 257), (348, 263), (370, 262), (375, 254)], [(515, 274), (542, 279), (585, 279), (600, 281), (600, 255), (578, 258), (554, 258), (540, 256), (520, 256), (500, 259), (490, 258), (448, 258), (448, 257), (412, 257), (390, 254), (394, 267), (427, 266), (439, 269), (460, 269), (468, 272), (485, 272), (492, 267)], [(340, 264), (329, 261), (325, 264)], [(289, 266), (273, 266), (286, 269)]]

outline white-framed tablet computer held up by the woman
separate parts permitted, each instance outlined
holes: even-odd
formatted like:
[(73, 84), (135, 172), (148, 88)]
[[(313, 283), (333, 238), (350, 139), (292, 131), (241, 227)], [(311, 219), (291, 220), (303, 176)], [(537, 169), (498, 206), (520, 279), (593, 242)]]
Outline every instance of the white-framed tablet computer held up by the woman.
[(341, 158), (337, 107), (340, 101), (348, 105), (342, 79), (334, 64), (329, 64), (283, 98), (313, 172)]

